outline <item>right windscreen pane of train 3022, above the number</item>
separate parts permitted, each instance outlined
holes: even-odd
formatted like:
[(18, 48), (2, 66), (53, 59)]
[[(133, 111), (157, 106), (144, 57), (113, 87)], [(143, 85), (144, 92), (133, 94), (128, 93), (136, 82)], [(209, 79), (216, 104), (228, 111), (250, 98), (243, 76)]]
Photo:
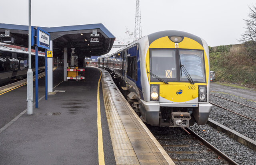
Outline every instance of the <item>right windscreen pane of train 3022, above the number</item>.
[[(203, 51), (179, 50), (180, 64), (188, 71), (193, 81), (205, 82)], [(180, 71), (180, 81), (188, 81), (183, 70)]]

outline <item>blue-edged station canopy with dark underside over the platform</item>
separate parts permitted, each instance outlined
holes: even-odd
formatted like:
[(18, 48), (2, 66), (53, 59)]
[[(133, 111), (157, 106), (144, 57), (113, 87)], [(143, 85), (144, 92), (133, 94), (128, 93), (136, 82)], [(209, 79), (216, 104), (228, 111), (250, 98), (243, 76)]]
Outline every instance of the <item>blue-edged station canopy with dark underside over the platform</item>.
[[(50, 33), (54, 57), (63, 57), (64, 47), (68, 48), (68, 55), (71, 48), (75, 48), (80, 58), (100, 56), (110, 51), (115, 40), (114, 35), (102, 24), (40, 28)], [(28, 26), (0, 24), (0, 34), (5, 34), (6, 30), (10, 37), (0, 37), (0, 42), (28, 47)]]

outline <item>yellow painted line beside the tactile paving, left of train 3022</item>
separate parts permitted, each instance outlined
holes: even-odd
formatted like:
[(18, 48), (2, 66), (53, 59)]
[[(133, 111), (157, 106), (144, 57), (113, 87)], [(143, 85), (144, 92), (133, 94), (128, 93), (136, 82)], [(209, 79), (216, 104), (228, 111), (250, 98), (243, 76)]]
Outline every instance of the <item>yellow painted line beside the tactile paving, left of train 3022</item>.
[[(101, 79), (100, 71), (100, 79)], [(97, 92), (97, 126), (98, 126), (98, 157), (99, 165), (105, 165), (104, 150), (103, 150), (103, 138), (101, 129), (101, 117), (100, 117), (100, 79), (98, 81), (98, 92)]]

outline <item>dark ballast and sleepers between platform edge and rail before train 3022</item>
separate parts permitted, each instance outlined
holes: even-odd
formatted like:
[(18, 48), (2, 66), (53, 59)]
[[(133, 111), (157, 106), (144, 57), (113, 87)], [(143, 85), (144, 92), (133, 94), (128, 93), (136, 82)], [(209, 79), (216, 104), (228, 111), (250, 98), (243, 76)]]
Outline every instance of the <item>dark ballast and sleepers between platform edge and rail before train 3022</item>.
[[(176, 161), (176, 165), (226, 165), (226, 162), (222, 158), (218, 158), (218, 155), (214, 151), (206, 147), (198, 139), (188, 135), (184, 130), (180, 128), (154, 128), (149, 126), (150, 131), (158, 139), (158, 142), (163, 146), (168, 155)], [(183, 146), (180, 146), (183, 145)], [(196, 153), (176, 153), (176, 151), (194, 151)], [(182, 159), (196, 159), (197, 161), (182, 162)]]

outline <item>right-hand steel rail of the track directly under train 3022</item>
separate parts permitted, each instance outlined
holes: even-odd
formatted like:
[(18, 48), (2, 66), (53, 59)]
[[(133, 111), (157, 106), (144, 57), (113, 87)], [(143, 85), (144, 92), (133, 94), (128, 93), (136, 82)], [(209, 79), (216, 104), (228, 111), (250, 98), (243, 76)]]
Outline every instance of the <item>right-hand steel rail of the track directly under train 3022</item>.
[(190, 134), (192, 134), (193, 136), (195, 136), (196, 138), (198, 138), (202, 143), (204, 143), (204, 145), (206, 145), (208, 148), (212, 149), (215, 153), (217, 153), (220, 157), (222, 157), (223, 159), (225, 159), (226, 161), (228, 161), (228, 163), (232, 164), (232, 165), (238, 165), (238, 163), (236, 163), (233, 159), (231, 159), (230, 157), (228, 157), (228, 155), (226, 155), (225, 153), (223, 153), (222, 151), (220, 151), (218, 148), (214, 147), (211, 143), (209, 143), (208, 141), (206, 141), (204, 138), (202, 138), (201, 136), (199, 136), (198, 134), (196, 134), (196, 132), (192, 131), (190, 128), (185, 128), (186, 130), (188, 130), (188, 132), (190, 132)]

